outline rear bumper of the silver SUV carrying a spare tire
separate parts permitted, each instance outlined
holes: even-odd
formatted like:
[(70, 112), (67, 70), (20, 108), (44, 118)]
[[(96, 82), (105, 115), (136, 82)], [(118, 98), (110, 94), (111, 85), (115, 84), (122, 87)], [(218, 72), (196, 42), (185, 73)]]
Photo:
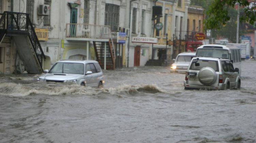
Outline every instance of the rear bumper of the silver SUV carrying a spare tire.
[(219, 86), (195, 85), (195, 84), (187, 84), (186, 81), (184, 81), (185, 89), (207, 89), (207, 90), (225, 90), (226, 89), (225, 83), (219, 83), (218, 85)]

